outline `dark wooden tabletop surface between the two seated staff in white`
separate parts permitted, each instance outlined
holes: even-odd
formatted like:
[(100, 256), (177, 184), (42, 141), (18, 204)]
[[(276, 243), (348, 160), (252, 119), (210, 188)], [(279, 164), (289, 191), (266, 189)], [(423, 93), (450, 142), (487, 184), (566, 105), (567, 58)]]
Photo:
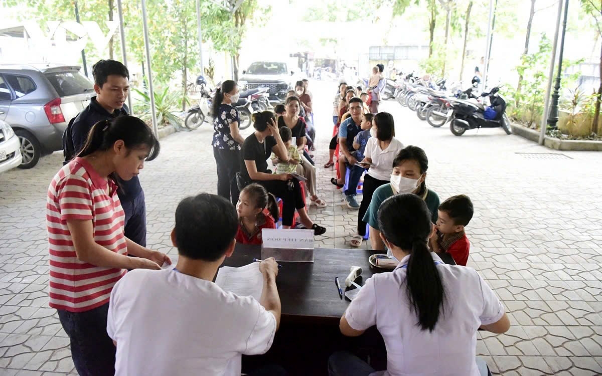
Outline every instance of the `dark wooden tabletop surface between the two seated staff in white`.
[[(368, 257), (374, 253), (382, 251), (315, 248), (313, 263), (279, 263), (282, 268), (276, 285), (282, 302), (282, 321), (338, 323), (350, 301), (347, 298), (341, 300), (335, 277), (339, 278), (344, 290), (352, 266), (362, 268), (362, 276), (356, 280), (358, 285), (363, 285), (373, 274), (389, 271), (370, 265)], [(447, 253), (439, 254), (439, 257), (447, 264), (455, 264)], [(254, 258), (261, 258), (261, 245), (237, 244), (234, 254), (226, 258), (223, 265), (241, 267)]]

